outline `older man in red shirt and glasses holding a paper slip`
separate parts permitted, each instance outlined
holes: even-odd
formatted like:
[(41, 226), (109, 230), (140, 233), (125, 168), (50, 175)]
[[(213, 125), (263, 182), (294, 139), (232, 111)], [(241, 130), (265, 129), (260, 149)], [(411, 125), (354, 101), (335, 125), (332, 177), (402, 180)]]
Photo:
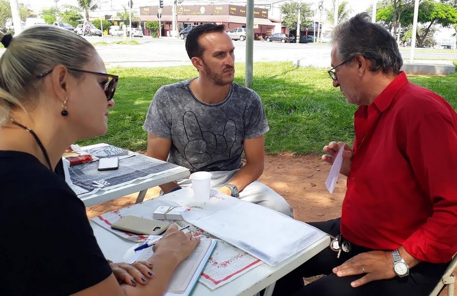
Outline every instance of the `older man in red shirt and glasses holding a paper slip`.
[(274, 294), (428, 295), (457, 252), (457, 114), (408, 81), (395, 39), (369, 18), (333, 32), (328, 74), (359, 106), (353, 149), (331, 142), (322, 156), (333, 163), (344, 149), (341, 219), (310, 223), (335, 239)]

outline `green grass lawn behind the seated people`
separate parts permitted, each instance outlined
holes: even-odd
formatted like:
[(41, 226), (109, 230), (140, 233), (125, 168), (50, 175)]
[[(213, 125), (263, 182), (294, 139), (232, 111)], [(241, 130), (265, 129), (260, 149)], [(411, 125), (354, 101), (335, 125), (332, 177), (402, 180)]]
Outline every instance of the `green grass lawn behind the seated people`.
[[(244, 64), (236, 64), (235, 68), (235, 82), (243, 84)], [(147, 133), (142, 126), (155, 91), (162, 85), (197, 76), (192, 66), (119, 67), (108, 72), (120, 76), (108, 133), (79, 144), (106, 142), (133, 151), (146, 150)], [(457, 74), (409, 78), (457, 108)], [(290, 62), (255, 63), (253, 88), (262, 98), (270, 124), (265, 143), (268, 153), (320, 154), (322, 147), (333, 140), (352, 144), (356, 106), (347, 104), (340, 89), (332, 87), (326, 69), (295, 68)]]

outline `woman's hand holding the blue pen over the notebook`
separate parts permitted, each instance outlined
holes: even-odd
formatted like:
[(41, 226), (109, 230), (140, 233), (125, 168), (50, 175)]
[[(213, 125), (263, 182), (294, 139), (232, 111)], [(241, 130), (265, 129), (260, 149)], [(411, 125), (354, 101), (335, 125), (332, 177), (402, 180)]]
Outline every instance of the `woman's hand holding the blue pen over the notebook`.
[[(154, 256), (166, 256), (170, 264), (180, 264), (192, 253), (200, 242), (199, 237), (192, 237), (192, 233), (178, 230), (178, 225), (172, 224), (154, 246)], [(153, 256), (153, 257), (154, 257)]]

